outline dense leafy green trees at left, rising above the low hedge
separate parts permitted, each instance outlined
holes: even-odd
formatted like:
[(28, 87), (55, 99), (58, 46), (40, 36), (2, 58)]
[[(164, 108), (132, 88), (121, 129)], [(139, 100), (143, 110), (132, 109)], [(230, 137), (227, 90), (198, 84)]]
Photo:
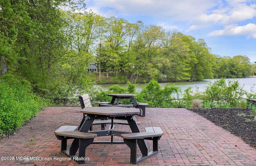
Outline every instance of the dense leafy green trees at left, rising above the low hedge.
[(69, 0), (7, 0), (0, 5), (1, 73), (22, 76), (34, 92), (46, 98), (62, 92), (63, 57), (70, 55), (74, 43), (66, 33), (70, 17), (60, 7), (78, 9), (76, 4)]

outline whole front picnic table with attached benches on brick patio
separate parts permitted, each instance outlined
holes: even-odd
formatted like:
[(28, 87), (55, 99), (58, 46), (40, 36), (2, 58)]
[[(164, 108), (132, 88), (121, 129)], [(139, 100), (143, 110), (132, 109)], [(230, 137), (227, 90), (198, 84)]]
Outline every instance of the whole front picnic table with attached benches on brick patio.
[[(163, 132), (160, 127), (149, 127), (148, 132), (141, 132), (135, 118), (135, 115), (140, 113), (139, 109), (134, 107), (84, 107), (80, 112), (86, 114), (86, 117), (81, 121), (78, 131), (74, 131), (77, 126), (62, 126), (54, 132), (56, 137), (62, 140), (61, 151), (64, 154), (75, 156), (76, 151), (79, 149), (78, 157), (76, 157), (78, 159), (74, 159), (79, 164), (85, 163), (85, 149), (91, 143), (126, 143), (130, 148), (131, 164), (137, 164), (158, 152), (158, 140)], [(96, 119), (110, 119), (111, 124), (108, 129), (89, 131), (93, 121)], [(118, 124), (129, 125), (130, 129), (125, 127), (126, 131), (115, 130), (116, 123), (114, 123), (114, 119), (115, 121), (116, 119), (124, 121)], [(94, 141), (95, 137), (101, 136), (111, 136), (111, 141)], [(122, 137), (124, 141), (114, 142), (114, 136)], [(70, 151), (67, 150), (67, 139), (74, 139), (70, 146)], [(145, 139), (153, 141), (153, 150), (150, 152), (148, 152)], [(140, 157), (137, 156), (137, 146), (142, 154)]]

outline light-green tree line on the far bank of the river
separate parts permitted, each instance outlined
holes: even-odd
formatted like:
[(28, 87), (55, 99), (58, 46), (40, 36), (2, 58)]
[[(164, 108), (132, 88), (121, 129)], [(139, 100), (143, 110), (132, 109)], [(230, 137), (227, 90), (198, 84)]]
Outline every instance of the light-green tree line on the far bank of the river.
[[(93, 13), (73, 13), (76, 31), (73, 47), (94, 55), (100, 72), (118, 76), (124, 72), (130, 82), (138, 78), (177, 82), (205, 78), (242, 78), (252, 74), (246, 56), (213, 55), (204, 39), (142, 21), (105, 18)], [(101, 77), (101, 73), (100, 73)]]

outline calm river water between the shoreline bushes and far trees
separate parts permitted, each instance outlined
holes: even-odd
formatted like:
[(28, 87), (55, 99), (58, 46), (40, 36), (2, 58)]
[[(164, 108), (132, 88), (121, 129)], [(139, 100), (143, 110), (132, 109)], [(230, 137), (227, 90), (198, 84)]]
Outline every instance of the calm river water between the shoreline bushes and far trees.
[[(175, 86), (179, 86), (180, 88), (182, 88), (182, 91), (184, 91), (186, 88), (188, 87), (192, 87), (192, 90), (195, 92), (197, 89), (199, 92), (202, 92), (205, 90), (205, 87), (209, 84), (209, 82), (214, 82), (216, 80), (219, 79), (206, 79), (206, 80), (202, 80), (202, 81), (186, 81), (186, 82), (171, 82), (170, 84), (174, 84)], [(243, 87), (244, 90), (246, 90), (247, 92), (251, 92), (251, 89), (253, 88), (254, 91), (256, 90), (256, 77), (252, 77), (252, 78), (236, 78), (236, 79), (226, 79), (228, 80), (238, 80), (240, 86)], [(166, 83), (159, 83), (160, 86), (163, 88), (165, 86)], [(103, 90), (108, 90), (108, 88), (110, 86), (112, 86), (114, 84), (102, 84), (102, 85), (96, 85), (99, 88), (102, 88)], [(124, 87), (125, 84), (118, 84), (120, 87)], [(144, 83), (142, 84), (137, 84), (136, 86), (136, 91), (140, 92), (140, 90), (145, 86)]]

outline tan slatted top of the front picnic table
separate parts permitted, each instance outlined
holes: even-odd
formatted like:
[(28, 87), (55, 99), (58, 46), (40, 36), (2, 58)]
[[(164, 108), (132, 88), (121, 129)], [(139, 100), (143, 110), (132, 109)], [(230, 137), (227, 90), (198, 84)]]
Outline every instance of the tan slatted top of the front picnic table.
[(93, 115), (106, 115), (111, 117), (115, 115), (135, 115), (140, 113), (140, 110), (134, 107), (85, 107), (80, 112)]

